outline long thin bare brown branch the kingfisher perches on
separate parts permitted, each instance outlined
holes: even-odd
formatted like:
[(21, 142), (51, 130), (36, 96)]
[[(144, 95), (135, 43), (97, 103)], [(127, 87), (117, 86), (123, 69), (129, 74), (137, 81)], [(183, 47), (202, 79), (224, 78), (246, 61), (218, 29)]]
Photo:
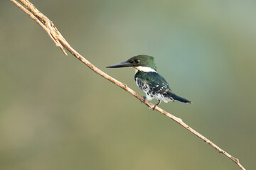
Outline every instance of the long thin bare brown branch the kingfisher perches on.
[[(15, 0), (9, 0), (9, 1), (11, 1), (16, 6), (18, 6), (18, 8), (21, 8), (21, 10), (24, 11), (26, 14), (28, 14), (28, 16), (30, 16), (34, 21), (36, 21), (36, 23), (38, 23), (39, 26), (41, 26), (43, 28), (43, 30), (46, 30), (46, 33), (48, 33), (48, 35), (53, 40), (55, 45), (60, 47), (60, 49), (64, 52), (65, 55), (68, 55), (68, 54), (65, 52), (63, 47), (65, 47), (65, 49), (68, 50), (72, 55), (77, 57), (78, 60), (80, 60), (81, 62), (86, 64), (87, 67), (92, 69), (92, 71), (94, 71), (95, 73), (97, 73), (100, 76), (104, 77), (105, 79), (111, 81), (112, 83), (116, 84), (117, 86), (121, 87), (122, 89), (127, 91), (129, 94), (132, 94), (134, 97), (138, 98), (139, 101), (144, 101), (144, 98), (142, 96), (139, 96), (139, 94), (137, 94), (135, 91), (130, 89), (126, 84), (123, 84), (122, 82), (120, 82), (120, 81), (110, 77), (105, 72), (102, 72), (100, 69), (95, 67), (92, 63), (90, 63), (88, 60), (86, 60), (84, 57), (82, 57), (82, 55), (80, 55), (77, 51), (75, 51), (73, 49), (73, 47), (71, 47), (68, 44), (68, 42), (63, 38), (63, 36), (60, 34), (60, 32), (54, 26), (53, 22), (50, 21), (45, 15), (43, 15), (43, 13), (38, 11), (38, 9), (35, 6), (33, 6), (33, 4), (31, 4), (31, 2), (29, 2), (28, 0), (18, 0), (22, 4), (21, 5), (21, 4), (19, 4)], [(148, 101), (145, 101), (145, 105), (148, 106), (149, 108), (154, 108), (154, 104), (149, 103)], [(160, 113), (162, 113), (162, 114), (166, 115), (167, 117), (171, 118), (176, 123), (182, 125), (183, 128), (186, 128), (186, 130), (189, 130), (194, 135), (196, 135), (197, 137), (201, 138), (201, 140), (203, 140), (204, 142), (208, 143), (211, 147), (213, 147), (214, 149), (218, 150), (218, 152), (224, 154), (226, 157), (228, 157), (233, 162), (235, 162), (235, 164), (237, 164), (240, 167), (240, 169), (245, 170), (245, 168), (240, 164), (240, 162), (239, 162), (239, 160), (237, 158), (231, 156), (230, 154), (228, 154), (228, 152), (225, 152), (223, 149), (221, 149), (220, 147), (215, 145), (213, 142), (208, 140), (206, 137), (201, 135), (199, 132), (197, 132), (196, 130), (193, 130), (193, 128), (191, 128), (188, 125), (186, 125), (186, 123), (183, 123), (181, 118), (177, 118), (176, 116), (171, 115), (170, 113), (164, 111), (163, 109), (159, 108), (158, 106), (156, 106), (155, 110), (159, 111)]]

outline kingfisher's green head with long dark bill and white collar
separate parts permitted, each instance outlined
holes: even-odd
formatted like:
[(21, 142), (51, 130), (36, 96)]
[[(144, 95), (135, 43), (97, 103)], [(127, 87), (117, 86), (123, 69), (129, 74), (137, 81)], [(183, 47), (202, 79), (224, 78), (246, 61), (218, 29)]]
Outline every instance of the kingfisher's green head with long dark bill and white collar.
[(130, 58), (127, 61), (119, 62), (117, 64), (112, 64), (107, 68), (120, 68), (120, 67), (132, 67), (136, 71), (141, 72), (156, 72), (156, 64), (154, 62), (154, 57), (149, 55), (137, 55)]

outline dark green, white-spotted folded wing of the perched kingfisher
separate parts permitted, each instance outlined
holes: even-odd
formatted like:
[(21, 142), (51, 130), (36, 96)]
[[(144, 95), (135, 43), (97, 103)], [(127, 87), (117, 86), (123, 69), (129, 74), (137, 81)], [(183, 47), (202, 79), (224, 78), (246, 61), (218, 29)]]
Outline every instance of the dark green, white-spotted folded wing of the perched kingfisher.
[(145, 81), (146, 84), (149, 84), (152, 90), (156, 93), (174, 94), (166, 79), (157, 72), (143, 72), (143, 74), (138, 75), (138, 78), (143, 79), (143, 81)]

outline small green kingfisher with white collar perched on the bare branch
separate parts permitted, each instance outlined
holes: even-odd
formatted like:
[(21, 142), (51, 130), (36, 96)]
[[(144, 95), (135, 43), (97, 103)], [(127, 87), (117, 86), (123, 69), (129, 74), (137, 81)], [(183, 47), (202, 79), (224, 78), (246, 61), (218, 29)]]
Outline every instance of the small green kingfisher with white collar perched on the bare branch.
[(169, 101), (192, 103), (186, 98), (182, 98), (174, 94), (166, 79), (156, 72), (156, 63), (154, 62), (154, 57), (149, 55), (137, 55), (127, 61), (112, 64), (107, 68), (120, 67), (130, 67), (135, 69), (135, 82), (137, 86), (139, 86), (139, 89), (142, 89), (142, 91), (144, 91), (146, 94), (146, 96), (143, 97), (144, 102), (145, 100), (151, 101), (154, 98), (158, 100), (158, 103), (154, 105), (154, 108), (156, 108), (161, 101), (164, 101), (165, 103)]

